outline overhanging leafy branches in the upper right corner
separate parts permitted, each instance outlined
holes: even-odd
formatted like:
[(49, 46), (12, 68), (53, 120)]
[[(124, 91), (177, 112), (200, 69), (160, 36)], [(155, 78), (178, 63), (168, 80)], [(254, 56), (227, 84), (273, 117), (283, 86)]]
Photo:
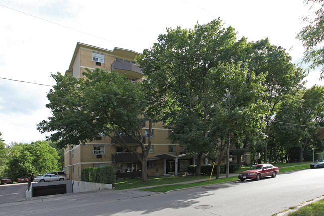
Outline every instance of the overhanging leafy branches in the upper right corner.
[(314, 18), (305, 17), (304, 21), (308, 25), (298, 33), (297, 38), (303, 42), (306, 48), (303, 61), (310, 63), (309, 69), (315, 69), (321, 66), (320, 79), (324, 79), (324, 4), (323, 0), (305, 0), (306, 4), (312, 4), (312, 7), (318, 7), (314, 12)]

